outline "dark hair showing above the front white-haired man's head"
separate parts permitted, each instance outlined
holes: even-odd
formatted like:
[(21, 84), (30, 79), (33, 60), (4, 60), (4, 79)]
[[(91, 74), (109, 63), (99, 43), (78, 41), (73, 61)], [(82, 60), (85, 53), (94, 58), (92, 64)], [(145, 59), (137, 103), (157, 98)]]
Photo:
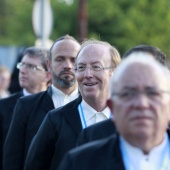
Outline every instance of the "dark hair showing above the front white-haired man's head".
[(157, 61), (159, 61), (164, 66), (167, 66), (166, 62), (166, 54), (164, 54), (159, 48), (149, 45), (138, 45), (130, 50), (128, 50), (124, 55), (123, 58), (128, 57), (130, 54), (134, 52), (146, 52), (150, 53)]

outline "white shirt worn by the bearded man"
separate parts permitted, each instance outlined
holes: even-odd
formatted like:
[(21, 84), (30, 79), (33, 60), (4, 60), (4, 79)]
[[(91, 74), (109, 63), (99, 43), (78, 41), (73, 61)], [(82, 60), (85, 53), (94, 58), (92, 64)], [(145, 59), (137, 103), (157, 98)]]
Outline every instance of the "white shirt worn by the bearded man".
[(54, 85), (51, 85), (51, 88), (52, 88), (52, 100), (55, 108), (64, 106), (65, 104), (73, 101), (79, 96), (78, 89), (73, 91), (70, 95), (66, 95), (61, 90), (54, 87)]

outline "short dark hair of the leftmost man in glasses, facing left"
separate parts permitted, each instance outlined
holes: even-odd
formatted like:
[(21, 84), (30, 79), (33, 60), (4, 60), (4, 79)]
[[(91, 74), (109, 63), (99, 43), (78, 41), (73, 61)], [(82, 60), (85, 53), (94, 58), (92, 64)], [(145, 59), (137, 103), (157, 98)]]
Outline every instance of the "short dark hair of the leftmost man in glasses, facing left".
[(25, 49), (23, 56), (29, 55), (32, 58), (40, 58), (43, 68), (47, 71), (46, 60), (49, 58), (49, 51), (40, 47), (28, 47)]

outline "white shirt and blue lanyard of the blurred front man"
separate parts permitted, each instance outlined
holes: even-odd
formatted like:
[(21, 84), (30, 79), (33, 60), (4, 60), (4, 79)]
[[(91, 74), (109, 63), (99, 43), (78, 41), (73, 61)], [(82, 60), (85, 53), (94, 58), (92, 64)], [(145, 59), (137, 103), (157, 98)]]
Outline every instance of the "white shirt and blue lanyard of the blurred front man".
[(163, 142), (148, 155), (120, 137), (120, 147), (126, 170), (170, 170), (170, 141), (165, 134)]

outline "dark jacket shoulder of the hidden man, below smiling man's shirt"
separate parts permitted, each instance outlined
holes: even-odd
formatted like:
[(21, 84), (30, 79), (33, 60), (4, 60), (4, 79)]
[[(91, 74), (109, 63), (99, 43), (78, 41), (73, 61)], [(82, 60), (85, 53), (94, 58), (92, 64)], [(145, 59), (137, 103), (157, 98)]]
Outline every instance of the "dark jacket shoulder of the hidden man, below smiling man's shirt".
[(78, 137), (77, 146), (108, 137), (115, 132), (116, 129), (113, 121), (111, 119), (106, 119), (83, 129)]

